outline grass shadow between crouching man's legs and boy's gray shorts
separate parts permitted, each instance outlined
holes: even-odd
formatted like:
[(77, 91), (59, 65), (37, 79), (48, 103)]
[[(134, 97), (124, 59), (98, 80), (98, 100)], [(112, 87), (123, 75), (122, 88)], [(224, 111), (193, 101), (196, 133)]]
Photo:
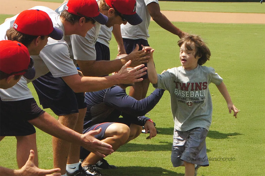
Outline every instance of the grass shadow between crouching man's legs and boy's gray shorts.
[[(161, 145), (154, 144), (133, 144), (128, 143), (120, 148), (117, 152), (134, 152), (134, 151), (171, 151), (172, 143), (171, 142), (159, 142)], [(210, 152), (210, 149), (206, 149), (206, 152)]]

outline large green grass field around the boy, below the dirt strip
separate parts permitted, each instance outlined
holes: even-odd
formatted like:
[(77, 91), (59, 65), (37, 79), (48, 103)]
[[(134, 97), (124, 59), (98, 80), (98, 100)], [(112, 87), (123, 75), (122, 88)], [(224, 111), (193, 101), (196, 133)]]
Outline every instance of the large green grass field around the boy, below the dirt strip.
[[(6, 17), (0, 16), (0, 20)], [(173, 24), (205, 39), (212, 54), (211, 60), (205, 65), (215, 68), (224, 79), (233, 103), (240, 109), (238, 118), (235, 119), (228, 113), (226, 102), (218, 89), (211, 84), (213, 121), (206, 138), (207, 155), (209, 158), (232, 158), (234, 161), (210, 161), (210, 166), (200, 168), (198, 175), (264, 175), (265, 25)], [(149, 33), (149, 44), (155, 49), (157, 72), (180, 66), (179, 47), (176, 45), (178, 37), (153, 21)], [(110, 49), (111, 58), (115, 58), (115, 40), (111, 41)], [(37, 100), (32, 85), (29, 86)], [(153, 90), (150, 86), (148, 95)], [(54, 115), (50, 110), (47, 111)], [(147, 135), (141, 134), (107, 156), (108, 162), (118, 166), (118, 169), (103, 170), (102, 173), (108, 176), (184, 176), (184, 168), (173, 168), (170, 161), (174, 122), (168, 92), (164, 93), (150, 114), (150, 118), (157, 124), (158, 135), (152, 140), (146, 140)], [(51, 136), (37, 129), (37, 146), (39, 167), (52, 168)], [(0, 150), (0, 165), (17, 168), (15, 137), (5, 137), (0, 142)]]

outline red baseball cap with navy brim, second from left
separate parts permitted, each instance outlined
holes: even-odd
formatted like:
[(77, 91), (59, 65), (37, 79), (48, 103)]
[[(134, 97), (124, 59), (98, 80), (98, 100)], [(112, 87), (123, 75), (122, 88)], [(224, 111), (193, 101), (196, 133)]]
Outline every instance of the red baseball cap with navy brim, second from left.
[(41, 10), (24, 10), (21, 12), (15, 22), (13, 27), (27, 35), (33, 36), (45, 36), (55, 40), (61, 40), (63, 38), (63, 32), (53, 27), (51, 18), (46, 12)]

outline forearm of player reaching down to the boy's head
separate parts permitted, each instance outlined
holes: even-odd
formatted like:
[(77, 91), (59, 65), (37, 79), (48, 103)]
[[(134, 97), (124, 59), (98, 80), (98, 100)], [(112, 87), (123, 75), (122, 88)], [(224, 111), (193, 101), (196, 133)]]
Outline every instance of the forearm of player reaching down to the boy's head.
[(182, 36), (182, 31), (177, 28), (176, 26), (174, 26), (169, 19), (167, 19), (167, 17), (160, 13), (157, 13), (156, 15), (152, 16), (153, 20), (162, 28), (164, 28), (165, 30), (171, 32), (172, 34), (175, 34), (177, 36), (179, 36), (179, 38)]

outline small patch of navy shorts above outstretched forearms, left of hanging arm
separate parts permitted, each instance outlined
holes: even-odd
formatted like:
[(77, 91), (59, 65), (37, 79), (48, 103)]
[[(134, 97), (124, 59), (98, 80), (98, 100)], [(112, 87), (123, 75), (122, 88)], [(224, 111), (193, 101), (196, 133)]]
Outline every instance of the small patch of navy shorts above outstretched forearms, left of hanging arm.
[[(97, 41), (95, 44), (95, 49), (96, 49), (96, 60), (111, 60), (108, 46)], [(104, 75), (103, 77), (105, 76), (108, 75)]]

